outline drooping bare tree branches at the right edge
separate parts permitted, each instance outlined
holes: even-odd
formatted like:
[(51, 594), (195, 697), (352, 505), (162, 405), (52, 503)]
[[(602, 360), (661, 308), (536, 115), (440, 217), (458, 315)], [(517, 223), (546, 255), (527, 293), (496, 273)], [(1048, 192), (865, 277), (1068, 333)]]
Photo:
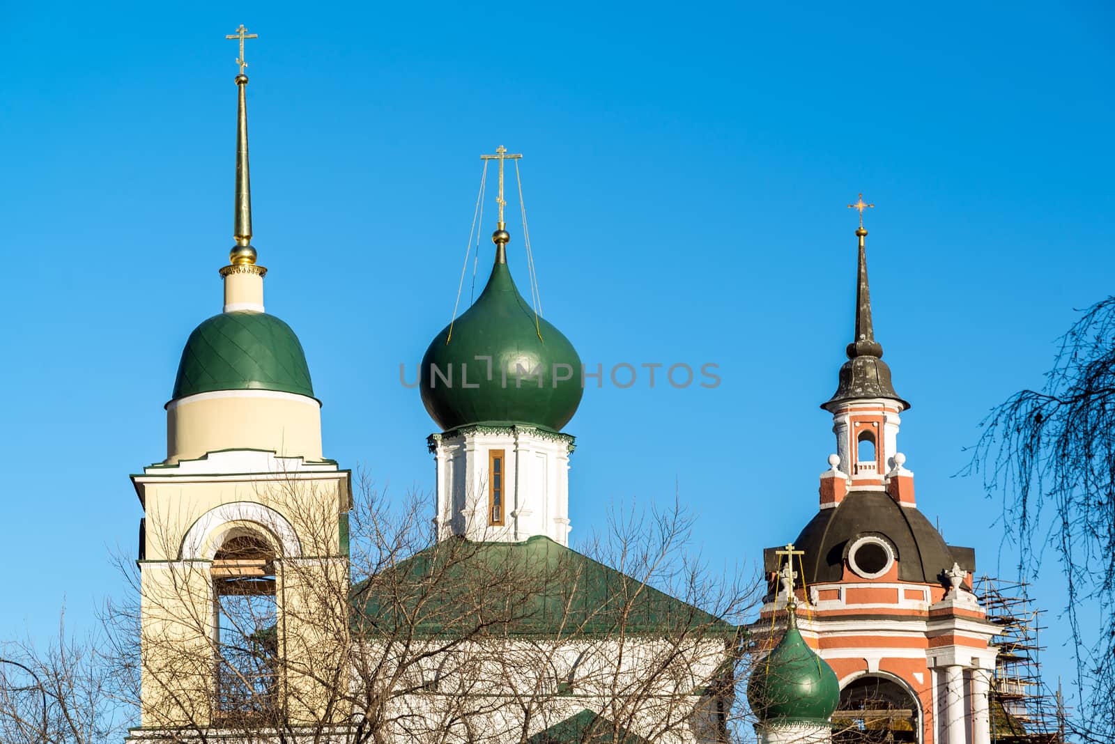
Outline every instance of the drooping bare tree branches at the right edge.
[(1115, 297), (1073, 324), (1045, 378), (983, 420), (970, 470), (1002, 499), (1022, 576), (1039, 572), (1047, 549), (1060, 562), (1077, 669), (1069, 726), (1106, 744), (1115, 741)]

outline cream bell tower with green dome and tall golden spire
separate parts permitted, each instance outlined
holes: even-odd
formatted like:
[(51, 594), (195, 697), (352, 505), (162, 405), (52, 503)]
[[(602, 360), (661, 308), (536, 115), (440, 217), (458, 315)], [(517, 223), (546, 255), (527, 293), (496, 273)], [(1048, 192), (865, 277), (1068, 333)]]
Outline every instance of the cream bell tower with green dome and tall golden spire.
[[(251, 245), (243, 26), (235, 241), (223, 312), (191, 333), (166, 404), (166, 459), (132, 476), (142, 712), (173, 730), (340, 721), (347, 686), (350, 472), (321, 451), (321, 403), (290, 326), (264, 312)], [(177, 740), (174, 740), (177, 741)]]

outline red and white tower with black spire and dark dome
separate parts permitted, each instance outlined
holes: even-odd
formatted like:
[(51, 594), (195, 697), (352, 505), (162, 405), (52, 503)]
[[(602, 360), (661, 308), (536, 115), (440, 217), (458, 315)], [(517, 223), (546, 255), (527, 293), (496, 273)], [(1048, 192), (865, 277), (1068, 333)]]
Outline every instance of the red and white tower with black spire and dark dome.
[[(881, 742), (989, 744), (995, 626), (971, 594), (975, 550), (946, 545), (918, 510), (898, 450), (910, 404), (894, 392), (871, 323), (870, 205), (861, 195), (851, 206), (861, 213), (855, 337), (822, 405), (833, 415), (836, 454), (821, 474), (816, 516), (794, 550), (765, 551), (765, 568), (774, 578), (792, 554), (802, 635), (840, 679), (835, 742), (863, 741), (866, 731)], [(767, 623), (785, 604), (775, 591), (768, 599)]]

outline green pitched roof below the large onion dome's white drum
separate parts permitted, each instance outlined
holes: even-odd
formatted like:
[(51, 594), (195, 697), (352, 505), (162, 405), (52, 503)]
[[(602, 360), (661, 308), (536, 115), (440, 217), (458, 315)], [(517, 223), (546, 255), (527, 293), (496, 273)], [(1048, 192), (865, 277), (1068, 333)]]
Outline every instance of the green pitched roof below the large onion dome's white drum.
[(736, 632), (543, 536), (443, 540), (353, 587), (352, 604), (353, 633), (369, 635)]

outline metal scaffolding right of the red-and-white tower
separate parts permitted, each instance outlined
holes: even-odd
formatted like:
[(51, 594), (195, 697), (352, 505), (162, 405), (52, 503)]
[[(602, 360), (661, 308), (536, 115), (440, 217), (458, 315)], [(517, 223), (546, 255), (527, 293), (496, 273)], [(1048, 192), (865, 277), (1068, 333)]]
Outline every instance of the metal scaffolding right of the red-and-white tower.
[(1063, 744), (1060, 692), (1050, 693), (1041, 682), (1038, 634), (1045, 629), (1045, 610), (1035, 609), (1025, 581), (982, 576), (975, 588), (988, 621), (999, 628), (991, 642), (999, 648), (991, 683), (992, 744)]

